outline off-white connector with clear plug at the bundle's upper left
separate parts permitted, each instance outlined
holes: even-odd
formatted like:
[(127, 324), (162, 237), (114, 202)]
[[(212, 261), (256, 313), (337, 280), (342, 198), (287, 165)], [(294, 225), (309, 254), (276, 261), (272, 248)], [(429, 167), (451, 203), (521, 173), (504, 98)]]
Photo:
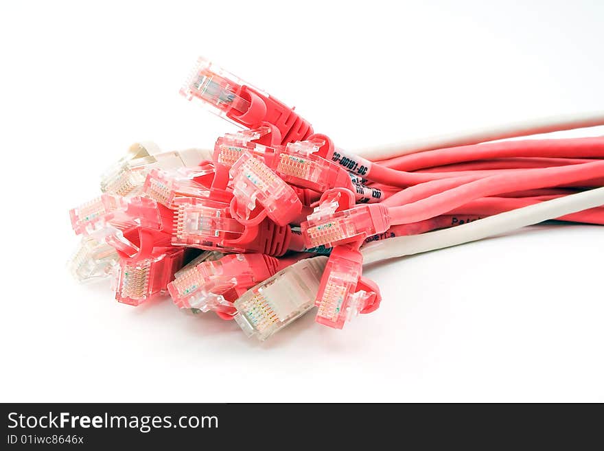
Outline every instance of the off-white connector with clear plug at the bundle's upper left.
[(160, 152), (153, 143), (135, 143), (125, 157), (104, 172), (101, 191), (119, 196), (138, 196), (143, 190), (146, 177), (153, 168), (176, 170), (198, 165), (211, 158), (204, 149), (187, 149)]

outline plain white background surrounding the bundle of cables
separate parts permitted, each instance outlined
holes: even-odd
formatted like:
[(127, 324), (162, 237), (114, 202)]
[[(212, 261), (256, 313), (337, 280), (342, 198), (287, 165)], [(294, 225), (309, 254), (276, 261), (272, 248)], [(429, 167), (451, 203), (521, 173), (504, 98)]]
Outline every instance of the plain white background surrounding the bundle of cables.
[(198, 54), (352, 150), (604, 104), (601, 1), (330, 3), (2, 3), (1, 401), (604, 402), (599, 227), (371, 268), (380, 310), (264, 344), (67, 274), (67, 211), (130, 143), (233, 129), (177, 93)]

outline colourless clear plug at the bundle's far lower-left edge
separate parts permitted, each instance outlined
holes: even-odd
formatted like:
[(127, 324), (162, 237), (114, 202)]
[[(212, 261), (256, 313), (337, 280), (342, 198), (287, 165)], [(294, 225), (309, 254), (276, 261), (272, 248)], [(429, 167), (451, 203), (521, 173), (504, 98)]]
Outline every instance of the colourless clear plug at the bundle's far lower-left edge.
[(69, 271), (80, 282), (104, 279), (111, 275), (119, 256), (115, 248), (92, 237), (84, 236), (69, 261)]

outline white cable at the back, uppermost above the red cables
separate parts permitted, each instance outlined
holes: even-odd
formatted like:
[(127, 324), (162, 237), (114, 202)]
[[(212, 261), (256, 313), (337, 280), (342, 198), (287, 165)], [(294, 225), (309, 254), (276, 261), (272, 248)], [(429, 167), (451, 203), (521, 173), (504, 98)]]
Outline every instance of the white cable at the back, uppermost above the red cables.
[(379, 161), (416, 152), (425, 152), (426, 150), (467, 146), (487, 141), (496, 141), (497, 139), (517, 138), (539, 135), (540, 133), (602, 125), (604, 125), (604, 111), (594, 111), (592, 113), (542, 117), (503, 126), (467, 130), (466, 132), (452, 133), (450, 135), (441, 135), (425, 139), (412, 139), (399, 143), (386, 144), (384, 146), (351, 150), (351, 153), (369, 159), (370, 161)]

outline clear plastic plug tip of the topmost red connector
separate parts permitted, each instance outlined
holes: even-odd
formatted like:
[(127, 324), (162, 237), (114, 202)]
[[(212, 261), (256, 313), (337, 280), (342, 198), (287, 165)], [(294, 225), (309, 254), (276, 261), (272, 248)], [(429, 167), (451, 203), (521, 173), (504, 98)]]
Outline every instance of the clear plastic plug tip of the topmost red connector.
[(187, 100), (198, 100), (213, 113), (233, 122), (227, 113), (234, 110), (236, 115), (242, 115), (251, 104), (240, 95), (244, 85), (251, 86), (218, 65), (200, 57), (180, 92)]

